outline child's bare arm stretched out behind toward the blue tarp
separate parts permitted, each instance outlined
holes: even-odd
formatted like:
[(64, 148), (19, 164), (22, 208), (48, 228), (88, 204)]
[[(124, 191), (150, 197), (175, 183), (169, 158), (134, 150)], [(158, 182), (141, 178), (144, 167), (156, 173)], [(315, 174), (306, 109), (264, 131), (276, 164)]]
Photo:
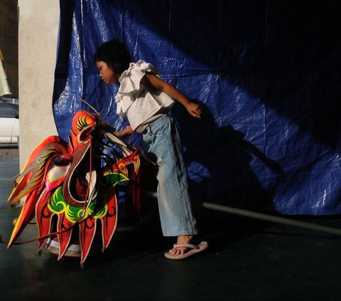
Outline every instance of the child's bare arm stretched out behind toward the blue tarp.
[(180, 102), (180, 104), (182, 104), (186, 110), (188, 110), (190, 115), (197, 118), (201, 117), (202, 110), (200, 105), (195, 102), (191, 102), (177, 88), (173, 87), (173, 85), (169, 83), (166, 83), (164, 80), (161, 80), (161, 78), (158, 78), (156, 75), (146, 73), (146, 75), (144, 75), (144, 77), (141, 79), (141, 83), (167, 93), (169, 96)]

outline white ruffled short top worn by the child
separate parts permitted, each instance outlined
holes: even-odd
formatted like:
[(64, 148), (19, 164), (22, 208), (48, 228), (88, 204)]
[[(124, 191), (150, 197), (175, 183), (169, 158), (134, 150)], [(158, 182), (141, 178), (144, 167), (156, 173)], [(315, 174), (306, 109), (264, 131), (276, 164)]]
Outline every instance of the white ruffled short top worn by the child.
[(148, 121), (155, 120), (153, 116), (163, 114), (174, 105), (174, 100), (168, 94), (140, 83), (146, 73), (160, 77), (158, 69), (144, 60), (130, 63), (128, 70), (119, 78), (119, 92), (115, 97), (117, 115), (127, 117), (131, 129), (137, 132), (144, 130)]

